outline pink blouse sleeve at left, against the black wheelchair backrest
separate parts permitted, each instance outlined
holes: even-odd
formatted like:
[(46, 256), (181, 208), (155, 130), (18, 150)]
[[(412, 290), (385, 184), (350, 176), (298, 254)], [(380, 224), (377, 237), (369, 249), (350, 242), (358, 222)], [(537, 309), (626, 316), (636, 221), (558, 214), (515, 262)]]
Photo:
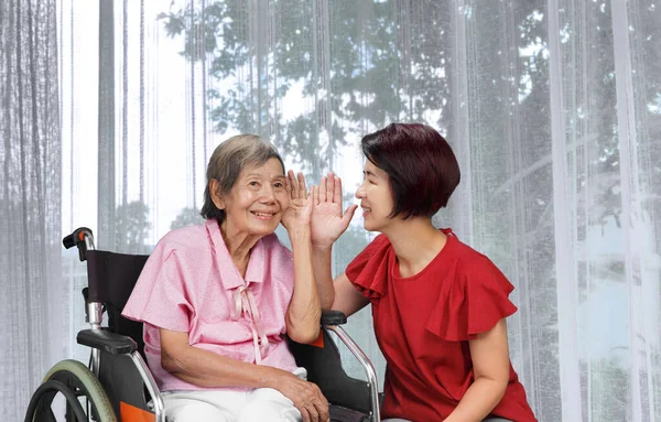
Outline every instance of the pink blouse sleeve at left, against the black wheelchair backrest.
[(156, 246), (122, 311), (127, 318), (188, 332), (193, 306), (175, 250)]

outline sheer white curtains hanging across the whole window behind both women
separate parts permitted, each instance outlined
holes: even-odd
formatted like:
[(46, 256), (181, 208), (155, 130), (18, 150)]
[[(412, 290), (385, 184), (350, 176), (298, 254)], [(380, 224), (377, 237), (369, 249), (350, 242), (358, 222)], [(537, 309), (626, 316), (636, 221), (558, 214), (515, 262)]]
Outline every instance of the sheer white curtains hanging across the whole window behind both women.
[[(447, 137), (463, 172), (435, 221), (517, 288), (510, 350), (539, 420), (658, 421), (660, 9), (654, 0), (2, 2), (9, 420), (48, 365), (86, 358), (74, 340), (84, 267), (61, 251), (61, 235), (86, 225), (104, 248), (149, 251), (171, 227), (198, 221), (206, 161), (239, 132), (270, 139), (310, 183), (335, 171), (349, 202), (360, 137), (423, 121)], [(356, 217), (335, 271), (372, 237)], [(370, 324), (367, 310), (349, 331), (382, 374)]]

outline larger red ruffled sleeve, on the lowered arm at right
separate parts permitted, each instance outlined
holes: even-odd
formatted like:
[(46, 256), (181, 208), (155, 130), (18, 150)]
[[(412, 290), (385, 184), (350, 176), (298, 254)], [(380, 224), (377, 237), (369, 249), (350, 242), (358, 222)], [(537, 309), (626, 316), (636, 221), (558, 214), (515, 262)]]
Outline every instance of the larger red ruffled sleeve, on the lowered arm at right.
[(426, 329), (445, 340), (475, 339), (517, 312), (508, 299), (514, 286), (484, 256), (464, 264), (457, 262), (454, 280), (447, 281), (425, 323)]

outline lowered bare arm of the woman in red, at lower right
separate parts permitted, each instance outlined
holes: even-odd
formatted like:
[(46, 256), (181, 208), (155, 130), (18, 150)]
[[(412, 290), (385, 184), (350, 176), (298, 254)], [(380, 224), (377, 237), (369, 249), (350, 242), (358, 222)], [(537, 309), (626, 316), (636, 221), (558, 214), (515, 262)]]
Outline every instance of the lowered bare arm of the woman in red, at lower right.
[(468, 342), (475, 381), (445, 419), (445, 422), (484, 420), (500, 402), (509, 382), (510, 363), (507, 324), (500, 320), (494, 328)]

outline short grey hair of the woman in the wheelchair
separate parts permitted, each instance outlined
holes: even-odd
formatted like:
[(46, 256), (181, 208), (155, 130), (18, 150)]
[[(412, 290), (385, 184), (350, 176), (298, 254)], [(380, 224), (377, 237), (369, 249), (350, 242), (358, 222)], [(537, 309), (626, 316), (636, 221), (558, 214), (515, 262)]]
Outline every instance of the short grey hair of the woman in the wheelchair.
[(275, 147), (257, 134), (237, 134), (216, 147), (207, 165), (207, 185), (204, 190), (204, 204), (199, 215), (206, 219), (215, 218), (218, 223), (225, 220), (225, 210), (218, 209), (212, 199), (209, 192), (212, 180), (217, 180), (220, 193), (227, 194), (234, 187), (246, 164), (261, 165), (273, 158), (280, 161), (284, 174), (284, 163)]

